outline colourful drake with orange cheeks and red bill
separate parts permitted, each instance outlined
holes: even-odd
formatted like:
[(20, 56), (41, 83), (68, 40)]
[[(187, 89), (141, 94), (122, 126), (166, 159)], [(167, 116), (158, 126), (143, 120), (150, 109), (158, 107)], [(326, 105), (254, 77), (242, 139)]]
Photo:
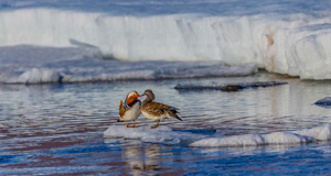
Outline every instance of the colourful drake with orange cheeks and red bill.
[[(126, 121), (127, 128), (138, 128), (135, 120), (141, 114), (141, 101), (138, 99), (141, 97), (137, 91), (130, 91), (122, 103), (119, 103), (119, 118), (117, 122)], [(128, 121), (134, 121), (134, 125), (129, 125)]]

